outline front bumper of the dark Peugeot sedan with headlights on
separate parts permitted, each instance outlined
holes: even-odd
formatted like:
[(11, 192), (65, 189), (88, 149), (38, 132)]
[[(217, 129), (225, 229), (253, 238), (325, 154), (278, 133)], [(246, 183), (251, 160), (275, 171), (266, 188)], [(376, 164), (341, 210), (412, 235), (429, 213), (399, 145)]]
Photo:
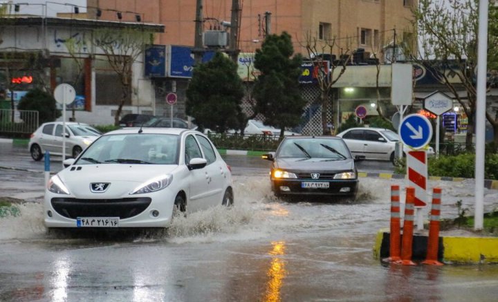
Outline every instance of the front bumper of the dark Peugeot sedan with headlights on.
[[(354, 196), (358, 191), (358, 179), (351, 180), (321, 180), (328, 182), (328, 188), (303, 188), (303, 182), (317, 182), (304, 179), (272, 179), (272, 189), (275, 194), (310, 195), (310, 196)], [(349, 189), (348, 189), (349, 188)]]

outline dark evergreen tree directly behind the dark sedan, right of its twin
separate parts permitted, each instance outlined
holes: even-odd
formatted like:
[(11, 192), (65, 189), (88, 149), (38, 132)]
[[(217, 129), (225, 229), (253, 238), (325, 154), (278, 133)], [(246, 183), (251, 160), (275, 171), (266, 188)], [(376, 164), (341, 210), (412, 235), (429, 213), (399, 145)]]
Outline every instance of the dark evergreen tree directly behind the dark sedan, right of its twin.
[(255, 55), (255, 68), (261, 71), (254, 90), (256, 111), (264, 115), (265, 124), (281, 129), (280, 138), (286, 127), (299, 124), (306, 105), (298, 82), (302, 55), (293, 54), (291, 35), (282, 32), (268, 35)]

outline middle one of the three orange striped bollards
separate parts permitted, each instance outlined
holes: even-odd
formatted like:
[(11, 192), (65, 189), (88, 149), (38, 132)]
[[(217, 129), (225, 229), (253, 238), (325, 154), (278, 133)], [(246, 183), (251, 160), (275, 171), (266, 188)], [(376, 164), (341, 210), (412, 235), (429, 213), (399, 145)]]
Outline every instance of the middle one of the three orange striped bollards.
[(407, 187), (405, 221), (403, 222), (403, 239), (401, 243), (401, 259), (396, 264), (415, 265), (412, 261), (413, 220), (415, 213), (415, 188)]

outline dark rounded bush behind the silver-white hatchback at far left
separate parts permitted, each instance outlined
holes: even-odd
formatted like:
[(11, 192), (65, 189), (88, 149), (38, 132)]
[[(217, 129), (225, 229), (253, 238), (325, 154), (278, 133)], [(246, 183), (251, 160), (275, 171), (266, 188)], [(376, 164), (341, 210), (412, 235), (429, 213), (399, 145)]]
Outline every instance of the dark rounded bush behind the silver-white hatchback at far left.
[[(60, 110), (55, 106), (54, 97), (39, 88), (28, 91), (19, 101), (17, 108), (19, 110), (38, 111), (39, 124), (52, 122), (61, 116)], [(23, 119), (22, 115), (21, 119)]]

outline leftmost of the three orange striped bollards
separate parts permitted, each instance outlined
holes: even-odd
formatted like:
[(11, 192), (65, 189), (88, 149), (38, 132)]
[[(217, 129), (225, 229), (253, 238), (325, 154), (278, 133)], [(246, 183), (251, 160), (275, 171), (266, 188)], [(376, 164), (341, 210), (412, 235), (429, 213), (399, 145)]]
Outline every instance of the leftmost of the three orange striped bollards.
[(400, 258), (400, 202), (399, 186), (391, 185), (391, 232), (389, 234), (389, 257), (384, 261), (398, 261)]

